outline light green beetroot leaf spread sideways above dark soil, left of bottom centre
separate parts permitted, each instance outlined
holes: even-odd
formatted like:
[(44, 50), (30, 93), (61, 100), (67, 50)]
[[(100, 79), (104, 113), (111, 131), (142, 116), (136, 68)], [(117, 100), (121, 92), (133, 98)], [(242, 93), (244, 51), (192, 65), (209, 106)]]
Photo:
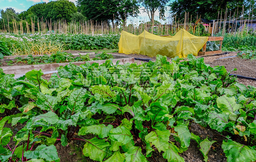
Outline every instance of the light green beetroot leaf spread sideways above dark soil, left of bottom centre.
[(88, 133), (97, 134), (100, 138), (108, 137), (108, 132), (113, 129), (113, 125), (105, 126), (104, 124), (100, 125), (90, 125), (80, 128), (78, 135), (86, 135)]

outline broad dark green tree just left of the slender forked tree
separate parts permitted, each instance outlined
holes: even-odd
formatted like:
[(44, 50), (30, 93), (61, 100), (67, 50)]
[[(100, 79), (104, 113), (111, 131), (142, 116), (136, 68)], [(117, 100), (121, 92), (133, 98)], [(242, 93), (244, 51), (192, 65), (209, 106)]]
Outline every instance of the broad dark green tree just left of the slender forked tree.
[(77, 0), (77, 8), (89, 20), (125, 21), (129, 16), (137, 16), (139, 6), (136, 0)]

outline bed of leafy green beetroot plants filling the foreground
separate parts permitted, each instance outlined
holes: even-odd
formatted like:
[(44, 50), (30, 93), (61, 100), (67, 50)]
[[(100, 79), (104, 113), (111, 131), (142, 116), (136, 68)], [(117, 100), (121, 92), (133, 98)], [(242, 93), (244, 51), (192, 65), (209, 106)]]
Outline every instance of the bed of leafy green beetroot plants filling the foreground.
[(216, 141), (191, 133), (194, 121), (230, 136), (221, 145), (228, 162), (255, 161), (256, 88), (236, 83), (223, 66), (212, 68), (203, 58), (179, 61), (157, 55), (142, 65), (113, 65), (111, 59), (69, 64), (49, 81), (41, 70), (18, 79), (1, 72), (1, 109), (9, 115), (0, 121), (2, 146), (13, 136), (7, 120), (25, 126), (13, 137), (14, 148), (0, 146), (0, 158), (58, 161), (53, 144), (82, 140), (84, 156), (96, 161), (146, 162), (163, 151), (169, 162), (181, 162), (179, 153), (195, 140), (207, 161)]

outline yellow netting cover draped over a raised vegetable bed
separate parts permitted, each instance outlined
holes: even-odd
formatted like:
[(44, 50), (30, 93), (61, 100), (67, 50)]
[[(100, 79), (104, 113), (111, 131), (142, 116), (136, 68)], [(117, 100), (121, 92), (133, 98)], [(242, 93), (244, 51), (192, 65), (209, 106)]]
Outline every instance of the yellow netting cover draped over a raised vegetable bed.
[(119, 53), (139, 53), (154, 57), (157, 54), (167, 57), (187, 57), (192, 53), (197, 56), (199, 50), (207, 42), (208, 37), (197, 37), (185, 29), (181, 29), (173, 37), (161, 37), (147, 31), (140, 35), (133, 35), (128, 32), (121, 32), (118, 42)]

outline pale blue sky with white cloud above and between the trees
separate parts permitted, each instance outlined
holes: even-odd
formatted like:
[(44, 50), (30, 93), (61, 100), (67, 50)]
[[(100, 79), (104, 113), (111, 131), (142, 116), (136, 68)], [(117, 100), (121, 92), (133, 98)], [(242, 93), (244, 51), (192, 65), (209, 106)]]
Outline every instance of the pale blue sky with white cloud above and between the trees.
[[(10, 8), (12, 7), (16, 12), (22, 12), (22, 11), (26, 11), (30, 6), (37, 4), (37, 3), (41, 3), (41, 2), (49, 2), (52, 0), (0, 0), (0, 9), (5, 10), (5, 8)], [(69, 0), (71, 2), (74, 2), (76, 4), (76, 0)], [(174, 0), (171, 0), (174, 1)], [(167, 7), (167, 10), (170, 10), (170, 7)], [(169, 11), (165, 12), (165, 17), (167, 17), (169, 14)], [(159, 21), (158, 18), (159, 12), (157, 11), (157, 13), (155, 14), (155, 20)], [(132, 18), (128, 18), (131, 20)], [(148, 19), (148, 14), (147, 13), (143, 13), (142, 12), (142, 8), (140, 8), (140, 15), (138, 17), (137, 20), (133, 20), (133, 21), (140, 21), (143, 20), (149, 20)]]

